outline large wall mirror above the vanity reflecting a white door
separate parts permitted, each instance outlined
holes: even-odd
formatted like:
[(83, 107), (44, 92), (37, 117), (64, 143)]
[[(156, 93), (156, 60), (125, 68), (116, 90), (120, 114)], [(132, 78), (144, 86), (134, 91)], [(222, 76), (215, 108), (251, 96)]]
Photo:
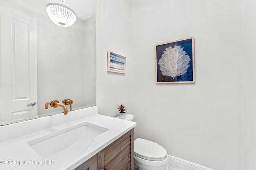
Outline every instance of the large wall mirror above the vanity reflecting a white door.
[(46, 14), (56, 1), (0, 0), (0, 125), (63, 114), (45, 109), (53, 100), (96, 105), (95, 0), (66, 0), (77, 16), (71, 27)]

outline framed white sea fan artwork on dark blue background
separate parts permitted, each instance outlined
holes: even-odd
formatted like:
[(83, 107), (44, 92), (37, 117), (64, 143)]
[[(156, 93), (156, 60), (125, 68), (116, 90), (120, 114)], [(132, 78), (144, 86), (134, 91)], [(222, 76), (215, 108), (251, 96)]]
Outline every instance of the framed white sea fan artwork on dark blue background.
[(155, 45), (156, 83), (194, 83), (194, 37)]

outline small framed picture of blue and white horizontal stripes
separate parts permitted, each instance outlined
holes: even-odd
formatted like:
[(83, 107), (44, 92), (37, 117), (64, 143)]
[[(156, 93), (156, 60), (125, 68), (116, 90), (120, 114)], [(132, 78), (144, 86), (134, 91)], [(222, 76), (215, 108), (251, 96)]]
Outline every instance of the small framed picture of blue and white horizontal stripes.
[(108, 72), (118, 72), (125, 74), (126, 57), (108, 51)]

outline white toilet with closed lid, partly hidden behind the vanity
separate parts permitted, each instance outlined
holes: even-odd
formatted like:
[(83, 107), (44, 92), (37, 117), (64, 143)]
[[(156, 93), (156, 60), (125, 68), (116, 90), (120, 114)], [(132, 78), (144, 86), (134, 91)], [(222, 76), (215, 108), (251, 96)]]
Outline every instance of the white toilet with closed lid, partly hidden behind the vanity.
[[(119, 116), (116, 118), (120, 119)], [(132, 114), (126, 114), (124, 120), (131, 121)], [(163, 170), (168, 163), (166, 150), (146, 139), (137, 138), (134, 141), (134, 169), (138, 170)]]

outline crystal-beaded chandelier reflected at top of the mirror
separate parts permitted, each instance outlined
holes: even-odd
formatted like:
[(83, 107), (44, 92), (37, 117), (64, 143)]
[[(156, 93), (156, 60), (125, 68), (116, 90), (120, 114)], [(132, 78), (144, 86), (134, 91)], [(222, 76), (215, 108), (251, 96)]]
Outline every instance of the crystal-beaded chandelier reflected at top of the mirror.
[(66, 0), (60, 0), (58, 3), (49, 3), (46, 5), (46, 12), (56, 25), (61, 27), (70, 27), (76, 21), (75, 12), (64, 5)]

